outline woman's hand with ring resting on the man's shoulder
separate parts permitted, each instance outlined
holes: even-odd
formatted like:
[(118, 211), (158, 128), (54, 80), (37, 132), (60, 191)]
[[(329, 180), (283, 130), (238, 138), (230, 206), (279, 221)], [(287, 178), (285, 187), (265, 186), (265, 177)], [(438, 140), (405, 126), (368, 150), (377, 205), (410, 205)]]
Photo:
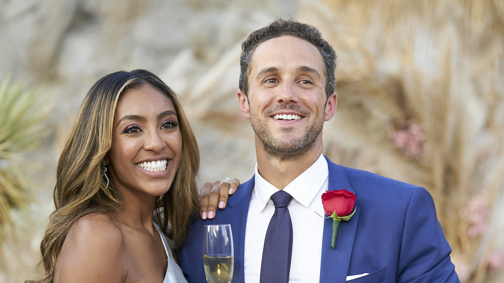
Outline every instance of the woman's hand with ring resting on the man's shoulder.
[(227, 198), (234, 194), (240, 185), (238, 179), (204, 183), (200, 190), (201, 218), (214, 218), (217, 207), (223, 209), (227, 205)]

